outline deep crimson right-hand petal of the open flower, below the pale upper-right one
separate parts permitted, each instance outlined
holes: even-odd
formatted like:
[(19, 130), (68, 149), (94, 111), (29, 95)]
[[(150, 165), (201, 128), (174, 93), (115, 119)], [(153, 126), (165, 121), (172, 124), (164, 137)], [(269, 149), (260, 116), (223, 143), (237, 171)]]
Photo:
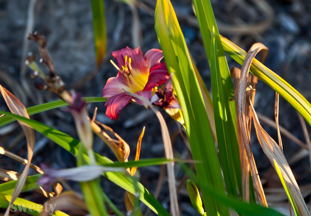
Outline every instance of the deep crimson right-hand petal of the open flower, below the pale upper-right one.
[(169, 72), (167, 71), (165, 62), (155, 63), (150, 68), (148, 82), (144, 90), (152, 90), (154, 87), (164, 84), (168, 78)]

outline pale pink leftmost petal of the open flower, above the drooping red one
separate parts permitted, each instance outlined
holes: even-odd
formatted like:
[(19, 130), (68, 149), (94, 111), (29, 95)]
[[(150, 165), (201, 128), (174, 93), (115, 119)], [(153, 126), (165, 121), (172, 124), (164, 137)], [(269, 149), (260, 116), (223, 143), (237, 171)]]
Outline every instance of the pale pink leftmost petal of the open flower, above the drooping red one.
[(122, 84), (117, 77), (110, 77), (103, 90), (103, 97), (111, 97), (117, 94), (121, 94), (124, 90), (132, 92), (132, 89), (128, 85)]

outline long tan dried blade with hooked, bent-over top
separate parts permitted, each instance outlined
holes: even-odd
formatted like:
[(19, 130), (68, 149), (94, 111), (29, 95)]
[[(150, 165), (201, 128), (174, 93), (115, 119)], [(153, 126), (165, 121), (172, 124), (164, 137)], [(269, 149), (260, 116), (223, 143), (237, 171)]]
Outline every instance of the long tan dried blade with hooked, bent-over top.
[(236, 109), (237, 109), (237, 118), (238, 121), (238, 130), (240, 130), (241, 133), (241, 141), (243, 142), (246, 150), (246, 155), (248, 157), (248, 163), (250, 166), (253, 183), (254, 183), (254, 189), (256, 191), (256, 195), (258, 197), (258, 201), (260, 205), (268, 206), (267, 200), (265, 198), (265, 194), (263, 192), (262, 184), (258, 175), (258, 170), (256, 167), (256, 163), (253, 157), (251, 145), (250, 145), (250, 139), (249, 139), (249, 121), (248, 121), (248, 109), (246, 109), (246, 88), (247, 82), (248, 82), (248, 73), (250, 69), (250, 65), (253, 61), (253, 58), (256, 56), (256, 54), (260, 51), (263, 51), (263, 56), (267, 55), (268, 48), (264, 46), (261, 43), (253, 44), (253, 46), (248, 51), (245, 60), (243, 62), (242, 68), (241, 68), (241, 76), (239, 80), (239, 85), (237, 87), (237, 94), (236, 94)]

